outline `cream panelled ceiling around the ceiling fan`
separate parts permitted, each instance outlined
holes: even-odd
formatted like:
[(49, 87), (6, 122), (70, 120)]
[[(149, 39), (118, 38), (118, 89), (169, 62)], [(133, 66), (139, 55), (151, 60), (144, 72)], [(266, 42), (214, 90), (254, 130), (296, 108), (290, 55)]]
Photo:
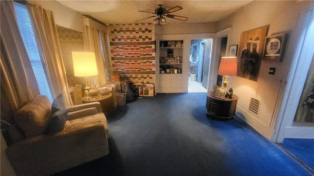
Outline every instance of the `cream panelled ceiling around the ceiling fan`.
[[(205, 23), (219, 22), (253, 0), (56, 0), (83, 15), (89, 15), (105, 24), (127, 24), (153, 16), (137, 12), (155, 12), (158, 4), (170, 9), (177, 5), (183, 9), (173, 15), (188, 17), (183, 22), (166, 18), (167, 23)], [(153, 22), (150, 18), (142, 22)]]

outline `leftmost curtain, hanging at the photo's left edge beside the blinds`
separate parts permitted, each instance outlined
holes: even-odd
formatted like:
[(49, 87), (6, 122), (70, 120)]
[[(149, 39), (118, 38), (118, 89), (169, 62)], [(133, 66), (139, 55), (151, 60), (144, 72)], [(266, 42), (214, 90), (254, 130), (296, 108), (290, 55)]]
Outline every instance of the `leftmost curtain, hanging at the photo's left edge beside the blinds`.
[(18, 28), (13, 1), (1, 0), (0, 4), (1, 91), (15, 111), (40, 93)]

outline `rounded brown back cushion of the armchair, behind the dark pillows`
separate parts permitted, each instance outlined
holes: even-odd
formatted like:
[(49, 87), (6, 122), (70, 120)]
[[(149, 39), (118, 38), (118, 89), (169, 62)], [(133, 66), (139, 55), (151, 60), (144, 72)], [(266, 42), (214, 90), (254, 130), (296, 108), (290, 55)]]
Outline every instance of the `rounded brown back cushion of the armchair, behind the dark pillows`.
[(37, 95), (14, 115), (26, 137), (44, 134), (51, 116), (51, 103), (46, 95)]

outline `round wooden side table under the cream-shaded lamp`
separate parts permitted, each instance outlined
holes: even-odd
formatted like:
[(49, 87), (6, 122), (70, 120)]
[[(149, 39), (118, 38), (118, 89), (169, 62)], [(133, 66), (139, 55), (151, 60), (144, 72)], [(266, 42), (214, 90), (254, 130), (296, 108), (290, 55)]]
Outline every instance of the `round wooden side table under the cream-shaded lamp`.
[(82, 100), (83, 100), (83, 103), (90, 103), (90, 102), (98, 101), (105, 115), (109, 114), (111, 110), (114, 109), (114, 100), (113, 100), (112, 93), (108, 93), (106, 95), (97, 95), (97, 96), (92, 97), (92, 99), (89, 99), (89, 100), (87, 100), (86, 96), (84, 96)]

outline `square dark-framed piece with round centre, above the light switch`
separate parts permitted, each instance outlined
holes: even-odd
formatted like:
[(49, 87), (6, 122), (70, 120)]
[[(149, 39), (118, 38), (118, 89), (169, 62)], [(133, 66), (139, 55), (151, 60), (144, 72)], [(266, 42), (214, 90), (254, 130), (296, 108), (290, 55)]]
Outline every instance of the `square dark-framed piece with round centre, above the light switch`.
[(287, 34), (266, 37), (263, 60), (282, 62), (285, 53)]

